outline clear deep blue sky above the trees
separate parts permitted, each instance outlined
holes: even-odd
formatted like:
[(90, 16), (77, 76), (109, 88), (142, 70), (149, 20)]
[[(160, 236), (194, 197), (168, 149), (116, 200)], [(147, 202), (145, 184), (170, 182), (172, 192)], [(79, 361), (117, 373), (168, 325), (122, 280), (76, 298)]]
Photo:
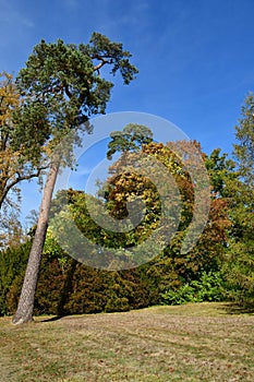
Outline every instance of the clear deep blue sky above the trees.
[(231, 151), (253, 91), (252, 0), (0, 0), (0, 71), (14, 74), (41, 38), (78, 44), (99, 32), (123, 43), (140, 74), (117, 80), (108, 112), (154, 114), (206, 153)]

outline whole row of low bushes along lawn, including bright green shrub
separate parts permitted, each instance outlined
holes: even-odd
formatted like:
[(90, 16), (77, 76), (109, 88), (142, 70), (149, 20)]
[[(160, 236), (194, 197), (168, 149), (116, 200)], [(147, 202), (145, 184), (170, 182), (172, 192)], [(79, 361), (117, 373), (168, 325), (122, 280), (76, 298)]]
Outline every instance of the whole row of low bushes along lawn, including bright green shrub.
[[(16, 309), (29, 248), (27, 242), (1, 253), (1, 314), (13, 314)], [(170, 259), (159, 258), (134, 270), (94, 270), (65, 255), (49, 237), (41, 260), (35, 314), (126, 311), (221, 298), (223, 279), (219, 272), (203, 272), (199, 279), (186, 282)]]

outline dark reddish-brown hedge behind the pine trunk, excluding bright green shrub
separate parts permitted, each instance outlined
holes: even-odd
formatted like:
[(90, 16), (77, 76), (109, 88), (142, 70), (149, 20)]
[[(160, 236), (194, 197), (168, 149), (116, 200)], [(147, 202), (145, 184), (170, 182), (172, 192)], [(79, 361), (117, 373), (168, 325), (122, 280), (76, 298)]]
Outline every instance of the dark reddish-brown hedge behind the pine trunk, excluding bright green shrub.
[[(13, 314), (24, 278), (31, 243), (1, 253), (1, 314)], [(35, 314), (126, 311), (153, 303), (140, 270), (94, 270), (65, 255), (47, 238), (35, 297)]]

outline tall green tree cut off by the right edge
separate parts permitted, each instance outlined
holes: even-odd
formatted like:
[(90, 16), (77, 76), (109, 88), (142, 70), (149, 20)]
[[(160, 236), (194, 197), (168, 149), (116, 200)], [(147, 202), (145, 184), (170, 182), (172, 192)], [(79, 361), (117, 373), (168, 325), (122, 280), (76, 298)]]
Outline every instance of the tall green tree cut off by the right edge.
[(232, 297), (254, 302), (254, 97), (249, 95), (235, 127), (234, 158), (239, 172), (232, 184), (232, 228), (229, 246), (228, 280)]

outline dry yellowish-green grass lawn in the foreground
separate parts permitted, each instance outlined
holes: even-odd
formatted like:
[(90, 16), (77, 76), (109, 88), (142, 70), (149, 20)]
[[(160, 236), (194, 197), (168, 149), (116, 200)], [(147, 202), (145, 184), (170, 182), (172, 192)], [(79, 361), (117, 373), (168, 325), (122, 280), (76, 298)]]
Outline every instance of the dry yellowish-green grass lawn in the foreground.
[(0, 381), (253, 381), (254, 315), (229, 305), (0, 319)]

